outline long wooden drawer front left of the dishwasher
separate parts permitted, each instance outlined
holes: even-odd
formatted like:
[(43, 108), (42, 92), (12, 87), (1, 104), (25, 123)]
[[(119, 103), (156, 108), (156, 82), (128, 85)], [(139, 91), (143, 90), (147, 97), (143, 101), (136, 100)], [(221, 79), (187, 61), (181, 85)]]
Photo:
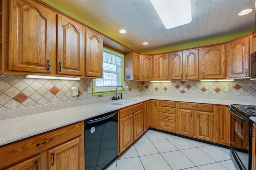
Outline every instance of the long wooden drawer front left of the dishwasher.
[[(34, 154), (38, 154), (44, 150), (67, 142), (68, 140), (72, 140), (78, 136), (82, 136), (83, 132), (84, 122), (78, 122), (1, 146), (1, 168), (20, 160), (29, 158)], [(50, 140), (51, 138), (53, 139)], [(42, 144), (44, 142), (47, 143)], [(37, 146), (37, 144), (40, 145)]]

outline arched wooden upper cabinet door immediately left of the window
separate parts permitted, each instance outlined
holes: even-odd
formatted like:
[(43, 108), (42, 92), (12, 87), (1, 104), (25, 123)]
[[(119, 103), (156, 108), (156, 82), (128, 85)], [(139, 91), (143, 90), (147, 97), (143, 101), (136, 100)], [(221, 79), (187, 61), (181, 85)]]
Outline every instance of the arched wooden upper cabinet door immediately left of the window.
[(85, 76), (102, 78), (103, 36), (95, 31), (86, 31)]

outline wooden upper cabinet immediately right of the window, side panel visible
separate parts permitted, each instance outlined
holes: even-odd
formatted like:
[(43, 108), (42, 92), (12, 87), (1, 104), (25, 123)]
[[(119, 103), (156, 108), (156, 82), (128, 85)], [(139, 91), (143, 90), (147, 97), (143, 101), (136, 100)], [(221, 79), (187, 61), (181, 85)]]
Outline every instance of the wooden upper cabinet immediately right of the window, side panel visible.
[(124, 80), (140, 80), (140, 54), (130, 52), (124, 54)]

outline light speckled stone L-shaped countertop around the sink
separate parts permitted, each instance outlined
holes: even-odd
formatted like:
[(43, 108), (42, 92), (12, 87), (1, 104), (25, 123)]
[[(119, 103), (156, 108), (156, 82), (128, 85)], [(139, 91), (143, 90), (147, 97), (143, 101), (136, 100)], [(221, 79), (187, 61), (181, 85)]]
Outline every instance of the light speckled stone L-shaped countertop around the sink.
[(172, 100), (179, 102), (196, 102), (206, 104), (221, 104), (227, 106), (230, 106), (230, 104), (255, 105), (254, 101), (184, 98), (172, 96), (138, 95), (125, 98), (124, 100), (126, 99), (133, 99), (136, 101), (122, 105), (110, 105), (106, 104), (106, 102), (98, 102), (94, 104), (87, 104), (83, 106), (76, 106), (72, 108), (65, 108), (61, 110), (0, 120), (0, 145), (2, 146), (4, 144), (28, 138), (30, 136), (34, 136), (82, 120), (86, 120), (94, 116), (111, 112), (113, 110), (118, 110), (150, 99)]

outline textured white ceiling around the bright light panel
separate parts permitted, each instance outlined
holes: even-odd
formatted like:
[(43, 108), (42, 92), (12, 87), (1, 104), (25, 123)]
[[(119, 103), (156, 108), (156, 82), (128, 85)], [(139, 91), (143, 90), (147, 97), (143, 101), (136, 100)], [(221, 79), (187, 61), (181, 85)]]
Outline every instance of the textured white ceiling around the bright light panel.
[(238, 16), (255, 0), (191, 0), (192, 22), (168, 30), (149, 0), (50, 1), (138, 52), (255, 29), (254, 10)]

